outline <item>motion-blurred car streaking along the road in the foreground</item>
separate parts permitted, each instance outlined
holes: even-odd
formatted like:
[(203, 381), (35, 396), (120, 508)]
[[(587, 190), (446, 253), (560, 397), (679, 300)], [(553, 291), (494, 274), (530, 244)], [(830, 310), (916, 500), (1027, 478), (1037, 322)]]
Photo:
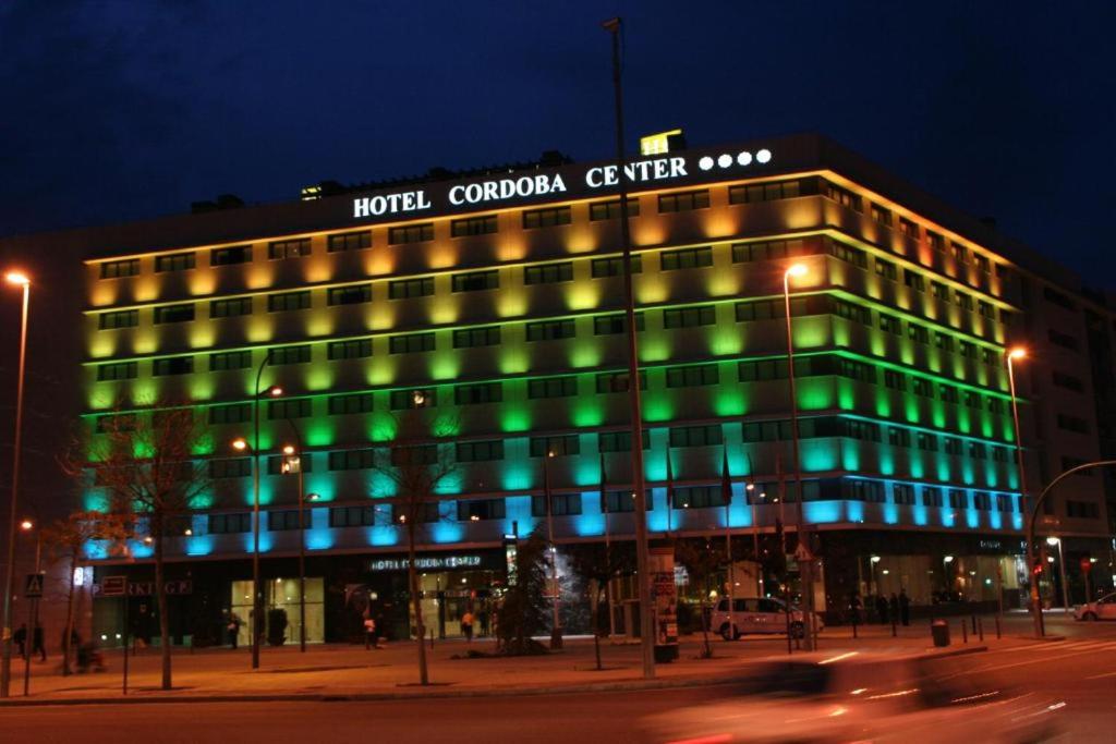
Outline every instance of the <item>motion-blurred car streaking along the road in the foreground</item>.
[(1057, 693), (1014, 693), (960, 659), (844, 653), (749, 666), (745, 682), (641, 721), (660, 742), (982, 744), (1057, 736)]

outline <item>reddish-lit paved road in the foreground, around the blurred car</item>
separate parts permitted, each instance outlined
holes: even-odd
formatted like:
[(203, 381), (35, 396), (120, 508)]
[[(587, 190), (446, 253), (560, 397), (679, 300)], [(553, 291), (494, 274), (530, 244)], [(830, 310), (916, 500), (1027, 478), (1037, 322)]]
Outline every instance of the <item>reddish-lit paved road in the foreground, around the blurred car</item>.
[[(1066, 626), (1068, 638), (974, 655), (965, 669), (1057, 690), (1062, 741), (1112, 741), (1116, 625)], [(151, 704), (0, 711), (0, 741), (66, 742), (644, 742), (644, 716), (702, 702), (705, 688), (376, 703)], [(973, 741), (982, 738), (974, 721)], [(916, 741), (912, 737), (912, 744)], [(960, 743), (959, 743), (960, 744)]]

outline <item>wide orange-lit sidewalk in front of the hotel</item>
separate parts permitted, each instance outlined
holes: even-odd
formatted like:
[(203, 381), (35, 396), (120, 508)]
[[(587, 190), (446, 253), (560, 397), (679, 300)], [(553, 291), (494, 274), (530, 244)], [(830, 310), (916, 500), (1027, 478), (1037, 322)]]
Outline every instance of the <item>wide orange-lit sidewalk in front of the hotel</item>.
[[(827, 629), (819, 638), (819, 651), (849, 650), (930, 653), (983, 650), (1027, 644), (1018, 635), (997, 640), (989, 629), (983, 641), (970, 637), (961, 642), (958, 621), (952, 624), (953, 645), (932, 647), (925, 624), (899, 628), (892, 637), (889, 626), (859, 628), (853, 639), (850, 628)], [(174, 689), (160, 685), (157, 649), (146, 649), (129, 659), (128, 695), (122, 694), (119, 651), (106, 655), (108, 671), (64, 677), (57, 658), (32, 663), (29, 697), (22, 697), (22, 663), (13, 664), (13, 696), (0, 705), (122, 702), (217, 702), (275, 699), (391, 699), (422, 696), (525, 695), (558, 692), (594, 692), (652, 687), (691, 686), (729, 682), (747, 674), (747, 665), (760, 659), (787, 658), (786, 637), (745, 637), (725, 642), (711, 636), (714, 658), (700, 659), (701, 635), (686, 636), (679, 660), (656, 666), (656, 678), (642, 677), (639, 647), (602, 641), (604, 670), (597, 671), (591, 638), (567, 638), (565, 648), (547, 656), (520, 658), (461, 658), (469, 650), (491, 653), (494, 642), (482, 639), (435, 641), (427, 645), (432, 685), (417, 685), (419, 671), (413, 642), (394, 642), (382, 650), (363, 646), (318, 645), (300, 654), (297, 646), (262, 647), (260, 668), (250, 668), (250, 650), (176, 649)], [(796, 650), (796, 654), (799, 653)], [(456, 658), (455, 658), (456, 657)]]

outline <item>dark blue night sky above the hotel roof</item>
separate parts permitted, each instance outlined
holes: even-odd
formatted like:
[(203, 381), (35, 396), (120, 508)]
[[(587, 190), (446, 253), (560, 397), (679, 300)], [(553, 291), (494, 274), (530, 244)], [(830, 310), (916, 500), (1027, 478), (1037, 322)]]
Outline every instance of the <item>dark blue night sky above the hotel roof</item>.
[(1113, 3), (0, 4), (0, 234), (325, 178), (816, 131), (1112, 282)]

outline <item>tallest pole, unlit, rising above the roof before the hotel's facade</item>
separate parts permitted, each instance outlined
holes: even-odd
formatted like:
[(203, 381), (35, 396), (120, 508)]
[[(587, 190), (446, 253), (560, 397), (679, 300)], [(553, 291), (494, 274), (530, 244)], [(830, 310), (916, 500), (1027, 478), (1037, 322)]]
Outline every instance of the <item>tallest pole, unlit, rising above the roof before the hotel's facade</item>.
[(639, 593), (639, 650), (643, 676), (655, 676), (655, 618), (651, 606), (647, 554), (647, 493), (643, 472), (643, 406), (639, 399), (639, 351), (632, 291), (632, 225), (628, 222), (627, 181), (624, 176), (624, 94), (620, 85), (620, 19), (602, 26), (613, 36), (613, 90), (616, 106), (616, 180), (620, 195), (620, 250), (624, 257), (624, 317), (627, 323), (628, 399), (632, 409), (632, 486), (635, 490), (635, 566)]

